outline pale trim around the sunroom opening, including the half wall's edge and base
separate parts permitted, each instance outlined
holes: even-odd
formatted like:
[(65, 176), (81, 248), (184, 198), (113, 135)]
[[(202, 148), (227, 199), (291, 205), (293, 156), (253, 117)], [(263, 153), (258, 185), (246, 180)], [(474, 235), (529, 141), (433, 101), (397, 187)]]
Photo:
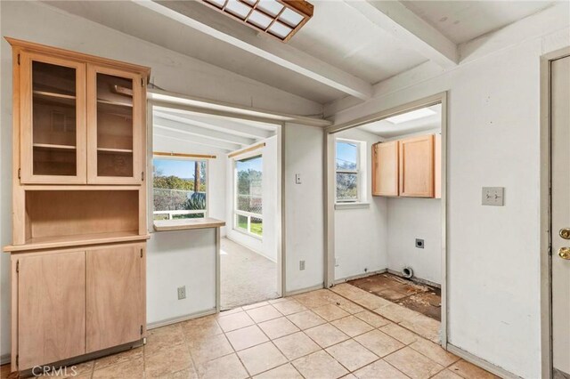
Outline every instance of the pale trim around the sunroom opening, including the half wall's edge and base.
[[(153, 158), (153, 109), (154, 107), (163, 107), (163, 108), (174, 108), (174, 109), (183, 109), (188, 110), (194, 113), (201, 113), (207, 115), (216, 115), (221, 117), (233, 117), (233, 118), (241, 118), (249, 121), (258, 121), (264, 122), (268, 124), (273, 124), (277, 126), (277, 214), (276, 214), (276, 222), (277, 228), (279, 232), (277, 233), (277, 293), (280, 297), (285, 296), (286, 294), (286, 250), (285, 250), (285, 121), (276, 119), (274, 115), (267, 114), (268, 117), (263, 117), (264, 113), (261, 111), (256, 111), (255, 113), (260, 115), (250, 115), (244, 114), (240, 111), (240, 108), (232, 106), (224, 106), (224, 109), (219, 109), (220, 104), (216, 104), (215, 102), (204, 101), (200, 100), (200, 104), (205, 105), (205, 108), (194, 107), (191, 105), (181, 104), (176, 99), (186, 99), (185, 96), (180, 96), (177, 93), (164, 93), (162, 91), (156, 92), (161, 95), (170, 96), (174, 98), (174, 101), (163, 101), (163, 100), (147, 100), (147, 107), (146, 107), (146, 122), (147, 122), (147, 145), (146, 145), (146, 154), (147, 154), (147, 186), (148, 186), (148, 193), (152, 194), (152, 158)], [(211, 105), (213, 109), (208, 109), (208, 105)], [(208, 206), (209, 206), (209, 200)], [(150, 233), (153, 233), (153, 226), (152, 226), (152, 195), (150, 195), (147, 199), (148, 203), (148, 230)], [(226, 224), (226, 227), (229, 225)], [(188, 317), (184, 317), (183, 319), (193, 319), (195, 317), (201, 317), (212, 313), (217, 313), (221, 310), (221, 301), (220, 301), (220, 294), (221, 294), (221, 280), (220, 280), (220, 238), (221, 238), (221, 230), (220, 228), (216, 228), (216, 308), (212, 311), (201, 312), (195, 315), (188, 315)], [(178, 322), (182, 319), (175, 319), (171, 323)], [(160, 326), (167, 325), (169, 323), (161, 323)]]

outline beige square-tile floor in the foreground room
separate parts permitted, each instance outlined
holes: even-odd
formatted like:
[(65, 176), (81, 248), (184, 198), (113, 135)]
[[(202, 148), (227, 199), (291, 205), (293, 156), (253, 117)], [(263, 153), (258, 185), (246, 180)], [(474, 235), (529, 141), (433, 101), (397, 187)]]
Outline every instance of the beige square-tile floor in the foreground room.
[(75, 377), (496, 377), (437, 345), (431, 321), (339, 285), (153, 329), (143, 347), (79, 365)]

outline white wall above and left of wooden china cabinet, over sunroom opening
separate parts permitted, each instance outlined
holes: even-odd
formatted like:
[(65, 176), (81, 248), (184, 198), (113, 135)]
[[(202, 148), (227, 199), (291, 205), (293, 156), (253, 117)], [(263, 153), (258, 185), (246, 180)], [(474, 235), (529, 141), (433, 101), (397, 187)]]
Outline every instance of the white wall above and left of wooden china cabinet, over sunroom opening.
[[(322, 106), (246, 77), (171, 52), (133, 36), (38, 2), (1, 2), (0, 33), (24, 40), (86, 52), (152, 68), (153, 79), (168, 91), (228, 101), (293, 114), (318, 114)], [(10, 45), (0, 42), (0, 245), (12, 243), (12, 57)], [(151, 254), (151, 252), (149, 252)], [(0, 356), (10, 352), (9, 255), (0, 258)], [(148, 266), (150, 278), (155, 269)], [(167, 273), (161, 273), (167, 278)], [(174, 286), (175, 283), (172, 283)]]

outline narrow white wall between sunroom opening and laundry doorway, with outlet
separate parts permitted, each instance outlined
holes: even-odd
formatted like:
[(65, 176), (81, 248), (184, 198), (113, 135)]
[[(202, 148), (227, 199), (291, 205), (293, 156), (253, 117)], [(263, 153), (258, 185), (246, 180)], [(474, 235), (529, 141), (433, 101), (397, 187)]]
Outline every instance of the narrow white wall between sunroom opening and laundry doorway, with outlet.
[[(286, 292), (323, 285), (323, 138), (321, 128), (285, 125)], [(295, 184), (295, 174), (301, 184)], [(299, 270), (305, 261), (305, 270)]]

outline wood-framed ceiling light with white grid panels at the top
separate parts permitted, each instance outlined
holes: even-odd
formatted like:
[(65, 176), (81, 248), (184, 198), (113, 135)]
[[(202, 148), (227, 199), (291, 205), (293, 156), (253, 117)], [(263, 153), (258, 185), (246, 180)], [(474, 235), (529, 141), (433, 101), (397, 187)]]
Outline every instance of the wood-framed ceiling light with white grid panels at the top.
[(204, 4), (281, 42), (297, 33), (313, 17), (313, 4), (305, 0), (202, 0)]

